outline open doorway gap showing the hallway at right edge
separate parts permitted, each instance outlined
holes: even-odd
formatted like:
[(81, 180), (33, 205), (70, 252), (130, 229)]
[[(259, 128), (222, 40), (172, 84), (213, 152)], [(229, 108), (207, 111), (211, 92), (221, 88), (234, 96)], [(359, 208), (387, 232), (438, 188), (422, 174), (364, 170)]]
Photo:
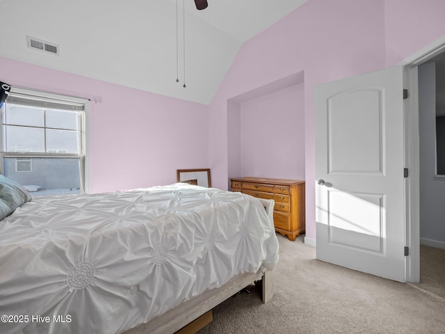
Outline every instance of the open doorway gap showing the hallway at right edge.
[(420, 285), (445, 298), (445, 52), (419, 65)]

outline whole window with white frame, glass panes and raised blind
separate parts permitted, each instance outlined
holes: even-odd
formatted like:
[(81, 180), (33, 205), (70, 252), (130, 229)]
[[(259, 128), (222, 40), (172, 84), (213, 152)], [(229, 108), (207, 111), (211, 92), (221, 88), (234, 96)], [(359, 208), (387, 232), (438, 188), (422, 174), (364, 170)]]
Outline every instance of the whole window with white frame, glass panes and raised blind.
[(33, 196), (83, 193), (88, 101), (12, 88), (1, 107), (1, 173)]

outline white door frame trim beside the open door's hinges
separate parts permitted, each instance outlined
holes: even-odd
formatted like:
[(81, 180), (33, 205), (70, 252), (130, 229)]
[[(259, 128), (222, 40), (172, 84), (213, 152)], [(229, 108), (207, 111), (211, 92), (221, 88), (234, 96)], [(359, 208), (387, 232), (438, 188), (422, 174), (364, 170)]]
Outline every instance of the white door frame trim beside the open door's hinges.
[(404, 86), (409, 98), (405, 100), (405, 243), (410, 256), (405, 258), (405, 280), (420, 282), (420, 148), (419, 148), (419, 81), (417, 68), (445, 51), (445, 35), (403, 59)]

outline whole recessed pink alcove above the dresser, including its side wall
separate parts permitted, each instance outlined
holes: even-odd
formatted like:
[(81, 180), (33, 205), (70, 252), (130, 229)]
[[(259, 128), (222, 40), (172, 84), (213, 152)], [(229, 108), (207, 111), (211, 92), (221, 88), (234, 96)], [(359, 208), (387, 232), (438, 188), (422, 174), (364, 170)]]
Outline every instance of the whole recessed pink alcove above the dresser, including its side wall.
[(231, 177), (305, 180), (304, 72), (227, 100)]

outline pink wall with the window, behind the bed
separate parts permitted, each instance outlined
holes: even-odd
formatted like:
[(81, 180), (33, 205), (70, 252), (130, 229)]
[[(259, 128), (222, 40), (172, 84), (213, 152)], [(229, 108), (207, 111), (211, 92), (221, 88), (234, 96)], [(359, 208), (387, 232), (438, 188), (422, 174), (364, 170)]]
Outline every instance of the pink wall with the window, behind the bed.
[(90, 192), (176, 182), (176, 170), (207, 168), (207, 106), (0, 57), (12, 86), (88, 97)]

